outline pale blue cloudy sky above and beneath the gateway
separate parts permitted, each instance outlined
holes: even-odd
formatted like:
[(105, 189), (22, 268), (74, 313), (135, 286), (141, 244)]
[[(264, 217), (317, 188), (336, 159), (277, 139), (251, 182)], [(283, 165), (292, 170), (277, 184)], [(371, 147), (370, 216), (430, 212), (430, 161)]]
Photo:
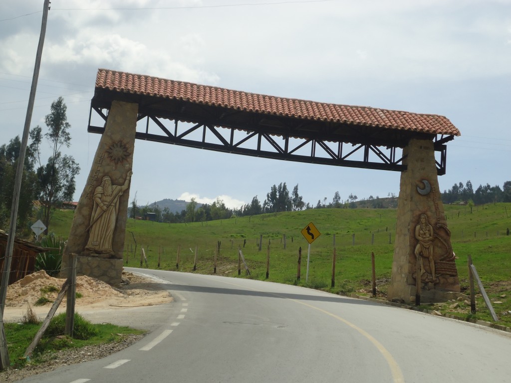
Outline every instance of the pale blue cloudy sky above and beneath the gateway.
[[(0, 2), (0, 145), (21, 136), (42, 0)], [(31, 127), (62, 96), (80, 163), (98, 68), (318, 102), (433, 113), (448, 143), (440, 189), (511, 180), (511, 0), (52, 0)], [(130, 200), (230, 207), (298, 184), (315, 205), (399, 193), (399, 173), (135, 142)]]

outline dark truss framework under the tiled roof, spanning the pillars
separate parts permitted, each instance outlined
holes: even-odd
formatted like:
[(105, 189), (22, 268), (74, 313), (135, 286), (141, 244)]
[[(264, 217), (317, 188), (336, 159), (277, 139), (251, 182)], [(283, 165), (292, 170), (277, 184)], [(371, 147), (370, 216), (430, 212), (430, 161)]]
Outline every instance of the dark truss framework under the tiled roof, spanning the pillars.
[[(446, 173), (445, 143), (454, 138), (222, 110), (182, 100), (157, 106), (136, 102), (139, 106), (135, 138), (286, 161), (402, 172), (406, 170), (402, 149), (410, 138), (419, 137), (434, 141), (435, 151), (439, 152), (437, 173), (443, 175)], [(104, 132), (110, 105), (111, 101), (92, 99), (88, 132)], [(93, 112), (96, 119), (99, 116), (104, 122), (103, 126), (91, 124)]]

